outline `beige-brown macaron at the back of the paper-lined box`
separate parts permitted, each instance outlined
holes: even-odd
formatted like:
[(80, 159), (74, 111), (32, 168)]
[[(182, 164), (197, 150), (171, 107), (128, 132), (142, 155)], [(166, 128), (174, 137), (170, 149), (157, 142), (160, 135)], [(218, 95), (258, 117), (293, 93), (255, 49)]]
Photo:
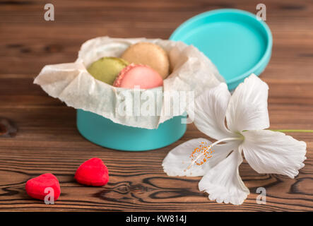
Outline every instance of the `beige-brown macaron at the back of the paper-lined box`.
[(132, 44), (122, 54), (122, 59), (129, 61), (129, 63), (148, 65), (160, 76), (165, 79), (170, 71), (170, 60), (168, 59), (167, 52), (150, 42), (138, 42)]

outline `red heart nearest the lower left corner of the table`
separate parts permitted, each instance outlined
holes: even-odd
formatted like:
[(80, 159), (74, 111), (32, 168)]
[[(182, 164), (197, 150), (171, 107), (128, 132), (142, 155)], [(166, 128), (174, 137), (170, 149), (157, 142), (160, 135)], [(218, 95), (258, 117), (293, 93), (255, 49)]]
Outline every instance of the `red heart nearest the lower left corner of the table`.
[[(53, 189), (54, 201), (56, 201), (61, 194), (61, 189), (59, 181), (57, 177), (54, 176), (54, 174), (42, 174), (39, 177), (28, 180), (25, 185), (27, 194), (30, 197), (40, 200), (45, 200), (45, 196), (48, 194), (50, 194), (50, 198), (52, 198), (51, 191), (47, 188)], [(47, 191), (45, 191), (45, 189), (47, 189)]]

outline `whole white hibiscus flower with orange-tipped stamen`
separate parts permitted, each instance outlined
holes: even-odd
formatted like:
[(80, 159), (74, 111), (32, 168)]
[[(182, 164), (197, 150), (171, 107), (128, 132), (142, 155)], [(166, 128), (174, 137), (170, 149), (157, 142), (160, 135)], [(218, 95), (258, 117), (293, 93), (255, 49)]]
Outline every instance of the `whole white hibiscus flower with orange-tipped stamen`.
[[(249, 194), (239, 175), (242, 151), (258, 173), (297, 176), (307, 145), (269, 127), (268, 85), (252, 74), (231, 95), (225, 83), (206, 91), (195, 102), (194, 124), (218, 141), (192, 139), (163, 160), (169, 176), (203, 176), (200, 191), (218, 203), (240, 205)], [(225, 120), (226, 124), (225, 125)]]

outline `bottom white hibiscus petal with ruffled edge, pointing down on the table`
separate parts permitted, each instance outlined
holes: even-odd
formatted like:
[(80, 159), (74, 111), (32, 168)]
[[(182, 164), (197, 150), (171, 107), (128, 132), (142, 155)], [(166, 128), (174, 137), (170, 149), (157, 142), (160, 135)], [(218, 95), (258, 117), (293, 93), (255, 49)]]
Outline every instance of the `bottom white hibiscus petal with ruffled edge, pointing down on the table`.
[(200, 191), (209, 194), (210, 200), (218, 203), (240, 205), (249, 194), (239, 175), (242, 156), (238, 150), (233, 151), (225, 160), (208, 170), (199, 182)]

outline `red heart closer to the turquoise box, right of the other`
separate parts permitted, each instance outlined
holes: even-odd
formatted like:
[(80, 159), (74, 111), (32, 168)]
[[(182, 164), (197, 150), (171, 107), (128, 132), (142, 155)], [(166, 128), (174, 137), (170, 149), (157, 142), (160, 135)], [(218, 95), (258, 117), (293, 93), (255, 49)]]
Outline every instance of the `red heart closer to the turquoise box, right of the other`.
[(103, 186), (109, 181), (109, 171), (100, 158), (93, 157), (78, 167), (75, 179), (80, 184)]

